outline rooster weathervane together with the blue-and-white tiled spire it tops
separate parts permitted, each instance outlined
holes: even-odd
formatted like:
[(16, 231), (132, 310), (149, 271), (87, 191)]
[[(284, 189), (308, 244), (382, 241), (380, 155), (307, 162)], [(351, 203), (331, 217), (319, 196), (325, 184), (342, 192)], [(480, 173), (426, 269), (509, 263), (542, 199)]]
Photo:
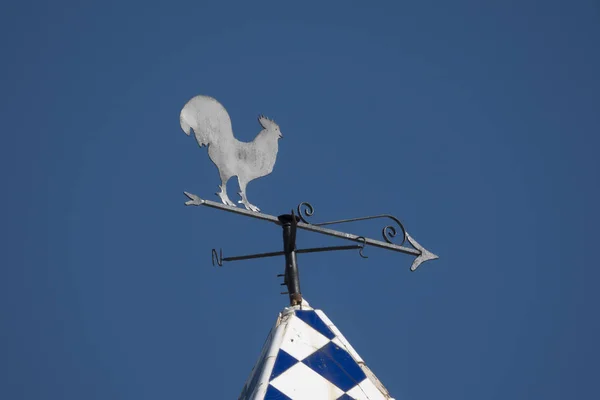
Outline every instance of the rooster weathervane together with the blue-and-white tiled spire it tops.
[[(252, 142), (245, 143), (233, 135), (231, 119), (225, 108), (208, 96), (192, 98), (181, 110), (181, 128), (187, 135), (192, 132), (200, 147), (207, 147), (208, 156), (217, 166), (221, 177), (217, 195), (221, 203), (204, 200), (184, 192), (188, 206), (207, 206), (237, 215), (269, 221), (283, 229), (283, 250), (236, 257), (223, 257), (223, 251), (212, 249), (213, 265), (224, 262), (265, 257), (285, 257), (282, 285), (288, 291), (290, 306), (285, 307), (264, 342), (263, 349), (250, 372), (238, 400), (393, 400), (389, 391), (377, 379), (350, 345), (341, 331), (322, 310), (312, 308), (300, 291), (297, 254), (335, 250), (358, 250), (363, 258), (365, 246), (393, 250), (415, 257), (410, 269), (416, 270), (428, 260), (438, 258), (427, 251), (406, 231), (400, 220), (389, 214), (311, 223), (314, 214), (309, 203), (300, 203), (289, 214), (274, 216), (261, 213), (248, 201), (246, 188), (250, 181), (273, 171), (278, 144), (282, 134), (274, 121), (260, 116), (262, 130)], [(227, 182), (237, 176), (240, 197), (236, 204), (227, 195)], [(392, 224), (382, 230), (383, 240), (330, 229), (328, 225), (356, 221), (387, 219)], [(346, 246), (296, 248), (298, 229), (333, 236), (355, 242)], [(398, 242), (392, 239), (399, 234)], [(410, 246), (404, 246), (405, 243)]]

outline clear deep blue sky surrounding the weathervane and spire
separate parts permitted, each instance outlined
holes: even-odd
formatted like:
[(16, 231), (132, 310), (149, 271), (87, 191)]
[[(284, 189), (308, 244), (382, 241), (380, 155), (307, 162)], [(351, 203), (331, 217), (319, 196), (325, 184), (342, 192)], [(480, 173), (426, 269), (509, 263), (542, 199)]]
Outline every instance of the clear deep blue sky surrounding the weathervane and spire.
[(283, 260), (210, 250), (281, 232), (183, 206), (218, 200), (196, 94), (281, 126), (265, 212), (392, 213), (440, 255), (299, 258), (397, 399), (600, 398), (597, 1), (13, 1), (0, 31), (0, 398), (237, 398)]

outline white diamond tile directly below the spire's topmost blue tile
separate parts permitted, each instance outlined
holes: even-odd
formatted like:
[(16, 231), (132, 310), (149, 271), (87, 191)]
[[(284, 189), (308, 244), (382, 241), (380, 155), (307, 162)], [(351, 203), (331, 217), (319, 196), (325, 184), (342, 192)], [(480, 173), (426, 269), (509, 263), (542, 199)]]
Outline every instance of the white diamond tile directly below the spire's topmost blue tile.
[(287, 324), (281, 349), (296, 359), (303, 360), (327, 343), (329, 339), (300, 318), (293, 316)]

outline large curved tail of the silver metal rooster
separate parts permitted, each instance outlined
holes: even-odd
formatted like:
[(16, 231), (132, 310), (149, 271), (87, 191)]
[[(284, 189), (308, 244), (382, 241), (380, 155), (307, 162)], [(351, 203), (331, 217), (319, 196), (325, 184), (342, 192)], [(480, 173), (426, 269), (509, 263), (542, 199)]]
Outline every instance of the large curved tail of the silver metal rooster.
[(196, 96), (183, 106), (179, 115), (181, 129), (186, 135), (192, 130), (200, 146), (219, 140), (233, 139), (231, 119), (217, 100), (208, 96)]

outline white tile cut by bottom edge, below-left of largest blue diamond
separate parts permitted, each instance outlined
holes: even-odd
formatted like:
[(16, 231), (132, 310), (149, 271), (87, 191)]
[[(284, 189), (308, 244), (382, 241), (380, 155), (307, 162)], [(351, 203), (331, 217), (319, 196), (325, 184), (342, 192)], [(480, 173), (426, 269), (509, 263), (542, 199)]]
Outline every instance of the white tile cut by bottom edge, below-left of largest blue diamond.
[(271, 381), (277, 390), (292, 400), (335, 400), (344, 392), (302, 363)]

